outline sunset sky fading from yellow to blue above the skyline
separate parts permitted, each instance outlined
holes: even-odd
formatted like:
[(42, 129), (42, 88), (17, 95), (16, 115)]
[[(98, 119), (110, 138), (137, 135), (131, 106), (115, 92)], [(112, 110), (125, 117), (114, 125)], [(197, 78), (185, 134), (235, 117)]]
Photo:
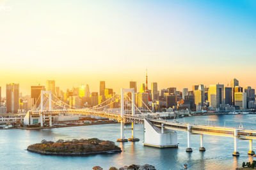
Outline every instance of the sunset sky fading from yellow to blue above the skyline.
[[(0, 0), (0, 86), (256, 88), (256, 1)], [(150, 85), (149, 85), (150, 87)]]

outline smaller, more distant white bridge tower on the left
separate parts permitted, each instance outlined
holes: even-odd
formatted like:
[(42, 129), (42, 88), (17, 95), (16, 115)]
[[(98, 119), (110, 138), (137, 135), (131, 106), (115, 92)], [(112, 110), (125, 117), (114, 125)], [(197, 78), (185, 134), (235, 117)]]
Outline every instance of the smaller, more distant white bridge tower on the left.
[[(40, 124), (44, 127), (44, 94), (49, 94), (49, 110), (52, 110), (52, 92), (41, 90), (41, 103), (40, 103)], [(52, 127), (52, 115), (49, 114), (49, 126)]]

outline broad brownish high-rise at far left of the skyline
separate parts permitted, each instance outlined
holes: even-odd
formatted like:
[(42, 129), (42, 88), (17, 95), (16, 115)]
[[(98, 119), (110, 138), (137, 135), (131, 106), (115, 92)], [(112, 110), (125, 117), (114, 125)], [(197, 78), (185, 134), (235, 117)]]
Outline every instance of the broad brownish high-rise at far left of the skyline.
[(19, 110), (19, 84), (6, 84), (7, 113), (17, 113)]

